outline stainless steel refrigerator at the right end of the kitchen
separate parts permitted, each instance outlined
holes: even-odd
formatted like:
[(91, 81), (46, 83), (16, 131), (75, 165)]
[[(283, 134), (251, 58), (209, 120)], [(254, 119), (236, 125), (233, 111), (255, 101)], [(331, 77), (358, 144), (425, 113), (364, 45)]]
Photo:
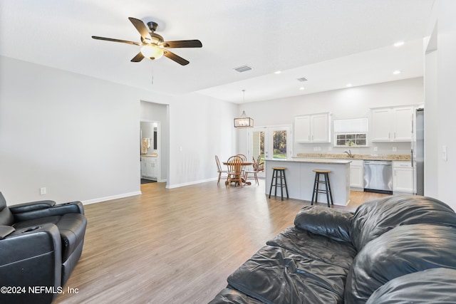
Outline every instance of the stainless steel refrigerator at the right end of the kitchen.
[(418, 108), (413, 120), (412, 166), (413, 193), (424, 195), (424, 163), (425, 163), (425, 110)]

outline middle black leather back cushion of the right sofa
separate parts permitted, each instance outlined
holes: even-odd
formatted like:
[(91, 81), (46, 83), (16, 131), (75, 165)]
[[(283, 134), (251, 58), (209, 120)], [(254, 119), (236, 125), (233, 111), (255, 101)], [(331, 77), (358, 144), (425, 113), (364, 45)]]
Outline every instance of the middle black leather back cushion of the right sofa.
[(456, 269), (456, 228), (429, 224), (397, 226), (369, 242), (348, 273), (346, 303), (365, 303), (393, 278), (430, 268)]

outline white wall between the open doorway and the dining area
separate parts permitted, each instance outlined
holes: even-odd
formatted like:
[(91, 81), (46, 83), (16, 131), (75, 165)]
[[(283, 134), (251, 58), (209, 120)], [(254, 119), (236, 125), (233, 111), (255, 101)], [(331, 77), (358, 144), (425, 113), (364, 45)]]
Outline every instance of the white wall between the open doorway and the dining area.
[[(170, 103), (170, 174), (167, 187), (204, 182), (217, 176), (214, 155), (235, 153), (236, 106), (199, 94)], [(217, 184), (217, 183), (216, 183)]]

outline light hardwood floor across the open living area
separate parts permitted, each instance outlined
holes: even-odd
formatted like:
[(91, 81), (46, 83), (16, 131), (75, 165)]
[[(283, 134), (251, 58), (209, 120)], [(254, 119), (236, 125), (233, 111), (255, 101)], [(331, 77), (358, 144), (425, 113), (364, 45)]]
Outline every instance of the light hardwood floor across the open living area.
[[(230, 273), (310, 204), (268, 199), (264, 180), (242, 189), (153, 183), (141, 191), (85, 206), (83, 253), (63, 289), (74, 292), (54, 303), (207, 303)], [(382, 196), (351, 192), (343, 209)]]

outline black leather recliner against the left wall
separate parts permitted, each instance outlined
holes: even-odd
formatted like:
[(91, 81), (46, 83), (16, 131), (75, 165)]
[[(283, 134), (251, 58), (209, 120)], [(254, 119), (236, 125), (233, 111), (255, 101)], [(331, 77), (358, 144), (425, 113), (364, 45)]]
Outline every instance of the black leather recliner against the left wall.
[(80, 201), (6, 206), (0, 192), (0, 303), (51, 303), (81, 257), (86, 226)]

